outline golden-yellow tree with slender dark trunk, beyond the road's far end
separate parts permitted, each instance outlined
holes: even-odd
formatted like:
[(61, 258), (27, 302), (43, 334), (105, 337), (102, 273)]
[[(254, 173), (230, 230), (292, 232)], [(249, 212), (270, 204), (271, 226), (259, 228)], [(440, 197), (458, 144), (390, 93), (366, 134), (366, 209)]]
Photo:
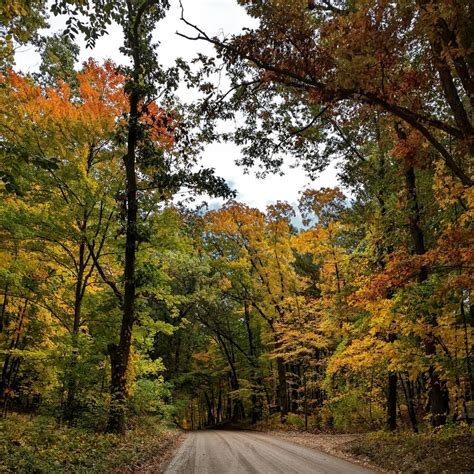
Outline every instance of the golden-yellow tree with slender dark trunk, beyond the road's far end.
[[(227, 208), (209, 214), (210, 231), (219, 252), (235, 252), (232, 259), (248, 272), (243, 281), (250, 281), (250, 288), (242, 288), (241, 277), (238, 277), (240, 283), (234, 283), (238, 292), (244, 291), (238, 298), (244, 305), (251, 305), (266, 322), (276, 350), (281, 344), (276, 325), (285, 320), (287, 298), (297, 285), (291, 267), (294, 257), (289, 218), (292, 213), (291, 207), (283, 203), (269, 207), (267, 216), (256, 209), (230, 203)], [(219, 243), (220, 239), (228, 240), (232, 247)], [(285, 420), (289, 412), (286, 367), (280, 355), (276, 356), (276, 363), (279, 409)]]

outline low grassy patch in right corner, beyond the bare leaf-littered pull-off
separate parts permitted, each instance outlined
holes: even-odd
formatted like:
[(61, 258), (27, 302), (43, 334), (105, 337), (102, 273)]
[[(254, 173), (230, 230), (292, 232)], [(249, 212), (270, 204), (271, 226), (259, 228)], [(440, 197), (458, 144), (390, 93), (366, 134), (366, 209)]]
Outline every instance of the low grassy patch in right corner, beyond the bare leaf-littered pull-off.
[(468, 427), (444, 427), (420, 434), (368, 433), (345, 444), (342, 449), (389, 471), (474, 471), (474, 437)]

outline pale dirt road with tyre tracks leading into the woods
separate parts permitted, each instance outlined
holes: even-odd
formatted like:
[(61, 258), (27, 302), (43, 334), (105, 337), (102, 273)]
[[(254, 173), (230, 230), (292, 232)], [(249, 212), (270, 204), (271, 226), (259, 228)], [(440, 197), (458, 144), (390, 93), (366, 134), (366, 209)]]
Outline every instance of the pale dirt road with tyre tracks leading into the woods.
[(190, 432), (165, 474), (369, 473), (321, 451), (250, 431)]

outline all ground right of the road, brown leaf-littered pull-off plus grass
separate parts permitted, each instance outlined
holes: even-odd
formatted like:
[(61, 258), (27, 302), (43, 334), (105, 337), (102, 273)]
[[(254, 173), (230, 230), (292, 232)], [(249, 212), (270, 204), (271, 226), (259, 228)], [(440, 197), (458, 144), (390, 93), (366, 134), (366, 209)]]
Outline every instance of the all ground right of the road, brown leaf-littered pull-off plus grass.
[(437, 432), (334, 434), (257, 426), (273, 436), (359, 463), (379, 472), (472, 473), (474, 436), (469, 428)]

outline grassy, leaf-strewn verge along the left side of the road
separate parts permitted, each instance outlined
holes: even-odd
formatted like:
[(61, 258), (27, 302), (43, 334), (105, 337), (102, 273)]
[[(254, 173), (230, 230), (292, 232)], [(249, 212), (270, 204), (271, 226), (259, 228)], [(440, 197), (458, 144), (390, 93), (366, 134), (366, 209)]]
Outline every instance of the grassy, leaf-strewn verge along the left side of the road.
[(0, 420), (0, 472), (127, 472), (160, 456), (178, 436), (176, 429), (152, 419), (120, 437), (11, 414)]

